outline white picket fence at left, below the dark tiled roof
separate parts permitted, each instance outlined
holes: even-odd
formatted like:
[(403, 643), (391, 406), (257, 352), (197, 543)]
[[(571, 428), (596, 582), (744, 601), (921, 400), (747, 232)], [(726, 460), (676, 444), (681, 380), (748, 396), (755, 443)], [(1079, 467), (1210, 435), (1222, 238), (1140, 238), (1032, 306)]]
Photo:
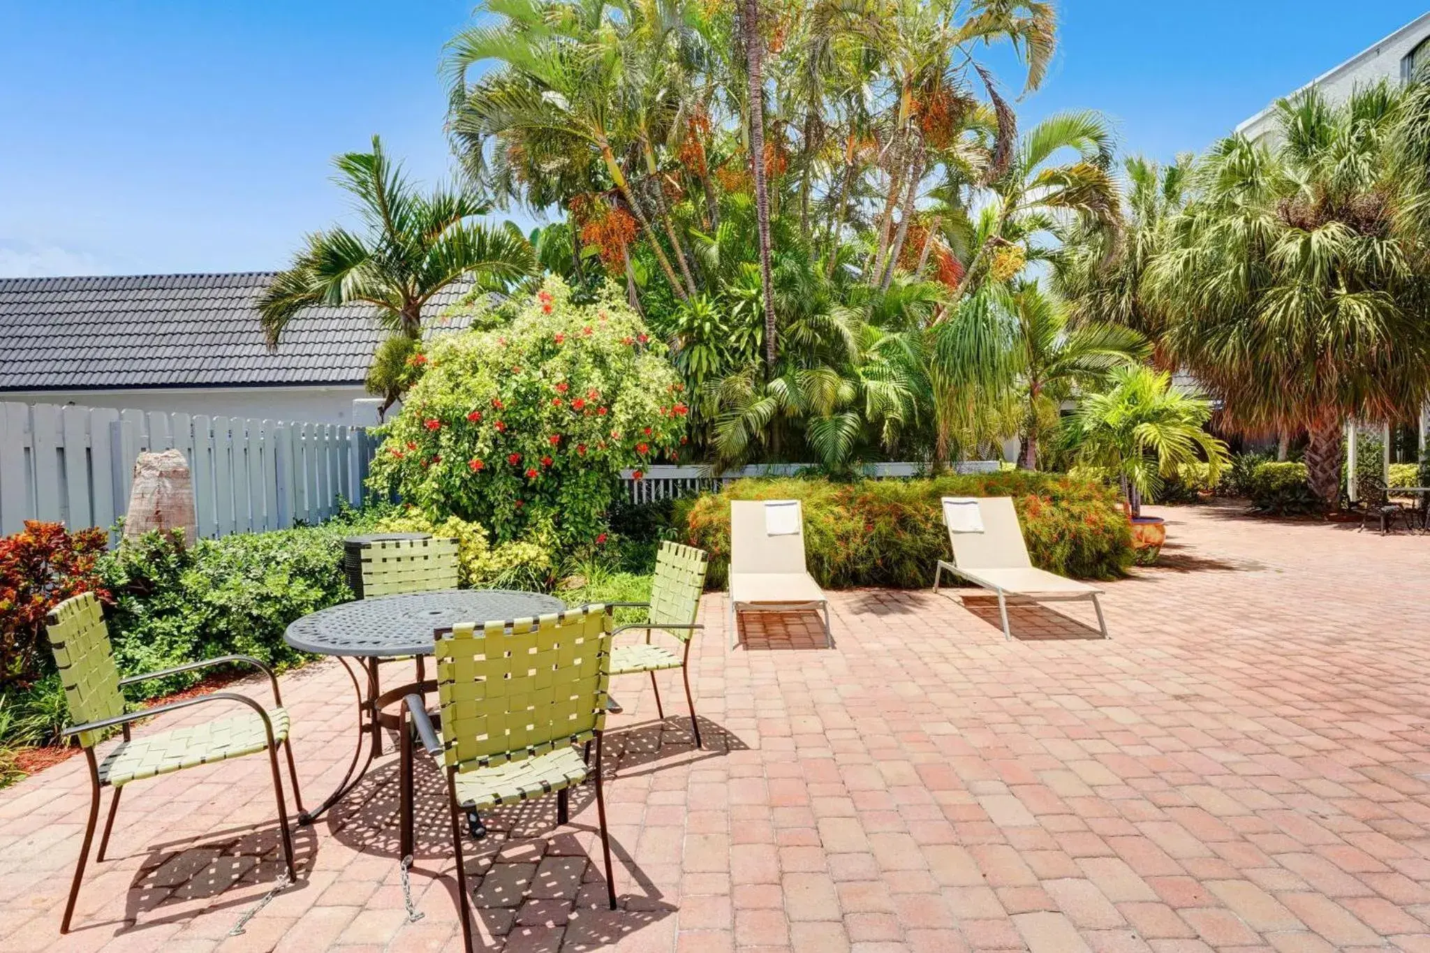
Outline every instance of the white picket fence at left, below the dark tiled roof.
[(0, 533), (24, 520), (109, 527), (129, 509), (143, 450), (182, 450), (199, 534), (316, 523), (362, 502), (360, 427), (206, 414), (0, 403)]

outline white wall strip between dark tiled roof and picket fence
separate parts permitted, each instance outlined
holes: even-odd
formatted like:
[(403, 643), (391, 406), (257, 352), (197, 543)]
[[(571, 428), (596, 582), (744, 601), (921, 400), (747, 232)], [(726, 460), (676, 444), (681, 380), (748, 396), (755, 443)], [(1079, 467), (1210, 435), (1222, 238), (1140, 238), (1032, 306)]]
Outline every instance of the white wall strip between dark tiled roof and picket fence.
[[(293, 420), (299, 423), (353, 423), (353, 400), (368, 397), (362, 387), (193, 387), (152, 390), (20, 390), (0, 391), (0, 401), (24, 404), (77, 404), (120, 410)], [(362, 420), (359, 423), (369, 423)]]

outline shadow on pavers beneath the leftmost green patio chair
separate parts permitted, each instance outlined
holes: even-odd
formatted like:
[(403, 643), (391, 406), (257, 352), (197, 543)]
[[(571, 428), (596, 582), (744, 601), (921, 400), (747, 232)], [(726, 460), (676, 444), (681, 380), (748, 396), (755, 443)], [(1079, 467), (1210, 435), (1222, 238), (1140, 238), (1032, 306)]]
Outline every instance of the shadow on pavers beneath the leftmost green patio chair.
[[(117, 833), (110, 842), (110, 857), (124, 857), (126, 846), (123, 832)], [(267, 896), (285, 872), (283, 847), (272, 822), (144, 844), (142, 849), (147, 856), (124, 897), (122, 934), (187, 923), (200, 912), (229, 910), (237, 923), (245, 912)], [(317, 834), (312, 827), (293, 830), (293, 854), (299, 870), (313, 869)], [(307, 879), (302, 877), (283, 887), (283, 893), (306, 890), (307, 886)], [(83, 894), (79, 909), (84, 909)], [(112, 920), (93, 920), (79, 929), (112, 924)]]

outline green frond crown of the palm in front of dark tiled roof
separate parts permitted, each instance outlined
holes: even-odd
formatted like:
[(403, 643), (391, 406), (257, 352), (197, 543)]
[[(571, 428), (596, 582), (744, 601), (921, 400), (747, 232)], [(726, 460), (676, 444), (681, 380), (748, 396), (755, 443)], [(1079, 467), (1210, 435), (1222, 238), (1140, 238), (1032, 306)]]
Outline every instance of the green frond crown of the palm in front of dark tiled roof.
[(312, 233), (277, 273), (259, 299), (270, 346), (305, 307), (349, 303), (370, 304), (385, 329), (419, 340), (422, 309), (452, 281), (469, 276), (496, 290), (536, 271), (532, 246), (515, 229), (473, 221), (486, 213), (473, 191), (416, 193), (376, 136), (370, 153), (345, 153), (333, 164), (363, 229)]

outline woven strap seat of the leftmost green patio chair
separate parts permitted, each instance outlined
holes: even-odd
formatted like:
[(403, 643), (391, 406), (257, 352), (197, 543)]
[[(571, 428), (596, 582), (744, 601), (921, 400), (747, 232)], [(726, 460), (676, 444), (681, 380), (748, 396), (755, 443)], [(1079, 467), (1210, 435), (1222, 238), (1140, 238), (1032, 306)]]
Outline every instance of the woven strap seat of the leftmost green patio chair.
[[(269, 709), (273, 743), (287, 737), (286, 709)], [(99, 766), (102, 782), (119, 787), (144, 777), (169, 774), (197, 764), (212, 764), (267, 749), (267, 733), (256, 713), (236, 714), (203, 724), (159, 732), (120, 742)]]

